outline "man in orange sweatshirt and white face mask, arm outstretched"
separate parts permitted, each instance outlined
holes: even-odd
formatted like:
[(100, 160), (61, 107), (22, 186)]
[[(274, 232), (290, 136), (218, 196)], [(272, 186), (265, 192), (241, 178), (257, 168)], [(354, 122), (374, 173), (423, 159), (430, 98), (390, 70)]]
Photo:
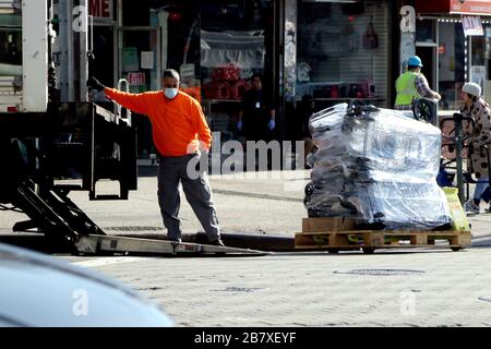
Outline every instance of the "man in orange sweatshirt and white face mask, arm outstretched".
[[(134, 112), (148, 116), (155, 147), (159, 153), (158, 204), (167, 228), (167, 237), (181, 242), (179, 182), (185, 198), (200, 220), (209, 243), (224, 245), (212, 198), (206, 169), (190, 173), (188, 164), (207, 156), (212, 134), (199, 101), (179, 91), (179, 73), (167, 69), (163, 73), (164, 91), (141, 94), (123, 93), (91, 79), (91, 84), (104, 88), (106, 96)], [(200, 144), (204, 149), (200, 153)]]

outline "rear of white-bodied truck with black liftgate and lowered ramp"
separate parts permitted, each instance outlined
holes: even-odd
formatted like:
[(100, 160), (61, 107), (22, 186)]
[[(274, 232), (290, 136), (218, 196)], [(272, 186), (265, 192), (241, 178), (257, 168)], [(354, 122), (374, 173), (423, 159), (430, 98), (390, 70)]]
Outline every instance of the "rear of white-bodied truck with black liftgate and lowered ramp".
[[(137, 184), (130, 113), (122, 118), (120, 108), (112, 113), (86, 101), (92, 28), (72, 26), (73, 20), (89, 23), (75, 3), (87, 8), (86, 0), (0, 1), (0, 210), (29, 218), (13, 231), (44, 233), (76, 254), (265, 254), (107, 236), (69, 198), (76, 190), (91, 200), (128, 200)], [(98, 195), (103, 179), (118, 181), (119, 193)]]

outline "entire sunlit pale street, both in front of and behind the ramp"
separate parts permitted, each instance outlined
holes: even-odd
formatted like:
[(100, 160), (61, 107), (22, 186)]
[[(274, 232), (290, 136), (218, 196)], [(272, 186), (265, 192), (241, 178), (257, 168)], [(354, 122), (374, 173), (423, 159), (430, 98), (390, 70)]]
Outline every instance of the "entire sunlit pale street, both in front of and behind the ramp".
[[(211, 177), (225, 232), (294, 236), (301, 230), (308, 171), (244, 176)], [(100, 191), (110, 192), (109, 184), (101, 183)], [(89, 202), (83, 192), (71, 197), (108, 233), (164, 234), (155, 177), (141, 177), (129, 201)], [(184, 200), (180, 215), (185, 233), (202, 231)], [(0, 217), (4, 232), (22, 219), (15, 213)], [(59, 257), (141, 291), (178, 326), (490, 326), (491, 215), (470, 221), (474, 246), (460, 252)]]

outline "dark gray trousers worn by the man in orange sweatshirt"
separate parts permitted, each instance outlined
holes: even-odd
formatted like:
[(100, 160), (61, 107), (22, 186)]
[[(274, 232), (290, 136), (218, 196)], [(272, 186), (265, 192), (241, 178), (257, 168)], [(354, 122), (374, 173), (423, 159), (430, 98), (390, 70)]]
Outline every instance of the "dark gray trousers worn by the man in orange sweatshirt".
[(220, 237), (220, 228), (206, 172), (200, 171), (199, 177), (193, 179), (187, 171), (188, 163), (197, 156), (196, 154), (190, 154), (179, 157), (159, 157), (158, 204), (164, 226), (167, 228), (167, 237), (170, 240), (181, 239), (181, 220), (178, 218), (181, 206), (179, 182), (182, 183), (185, 198), (200, 220), (208, 240), (215, 241)]

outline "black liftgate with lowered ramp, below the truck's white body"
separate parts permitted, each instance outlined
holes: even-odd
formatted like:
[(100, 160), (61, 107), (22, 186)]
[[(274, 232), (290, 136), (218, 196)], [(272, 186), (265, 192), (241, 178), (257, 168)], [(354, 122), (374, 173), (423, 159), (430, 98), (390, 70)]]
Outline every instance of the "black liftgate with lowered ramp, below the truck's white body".
[[(0, 209), (31, 219), (14, 231), (43, 232), (75, 254), (261, 255), (260, 251), (197, 243), (171, 243), (107, 236), (68, 194), (91, 200), (127, 200), (136, 190), (135, 129), (97, 105), (50, 105), (46, 113), (0, 113)], [(80, 185), (57, 184), (79, 179)], [(119, 181), (120, 192), (97, 195), (100, 179)], [(34, 230), (33, 230), (34, 229)]]

